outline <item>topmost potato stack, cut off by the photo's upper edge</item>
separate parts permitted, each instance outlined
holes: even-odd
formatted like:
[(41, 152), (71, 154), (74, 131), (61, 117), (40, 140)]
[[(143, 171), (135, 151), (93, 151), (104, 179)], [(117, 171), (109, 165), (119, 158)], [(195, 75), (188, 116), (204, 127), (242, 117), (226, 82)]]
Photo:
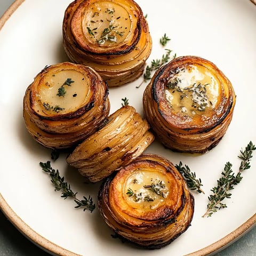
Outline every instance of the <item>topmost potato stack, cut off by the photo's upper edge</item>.
[(133, 0), (76, 0), (65, 12), (63, 45), (72, 62), (93, 67), (112, 87), (141, 76), (152, 41)]

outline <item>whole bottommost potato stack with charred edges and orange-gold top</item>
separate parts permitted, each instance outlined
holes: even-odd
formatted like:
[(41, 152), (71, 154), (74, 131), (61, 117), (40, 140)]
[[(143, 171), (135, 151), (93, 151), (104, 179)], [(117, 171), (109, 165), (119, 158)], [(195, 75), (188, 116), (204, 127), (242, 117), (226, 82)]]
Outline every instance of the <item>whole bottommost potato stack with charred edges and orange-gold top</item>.
[(145, 154), (102, 183), (98, 206), (117, 236), (158, 249), (190, 226), (194, 197), (170, 161)]

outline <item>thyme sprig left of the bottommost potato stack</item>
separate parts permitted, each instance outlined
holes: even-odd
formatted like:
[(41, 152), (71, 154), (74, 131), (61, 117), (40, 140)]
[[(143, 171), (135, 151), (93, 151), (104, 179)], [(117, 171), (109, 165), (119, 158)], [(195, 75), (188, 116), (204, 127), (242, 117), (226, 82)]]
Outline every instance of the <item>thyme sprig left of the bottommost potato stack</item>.
[(89, 195), (89, 197), (83, 197), (84, 199), (80, 200), (76, 197), (77, 193), (74, 193), (70, 185), (65, 181), (64, 177), (60, 177), (60, 173), (58, 170), (54, 170), (51, 167), (51, 162), (47, 161), (46, 163), (39, 163), (42, 167), (42, 170), (46, 173), (48, 173), (51, 177), (51, 182), (53, 183), (55, 187), (55, 191), (62, 191), (61, 197), (64, 199), (71, 197), (74, 199), (74, 202), (77, 204), (75, 208), (83, 207), (84, 211), (89, 210), (93, 211), (95, 209), (95, 204), (93, 203), (92, 197)]

